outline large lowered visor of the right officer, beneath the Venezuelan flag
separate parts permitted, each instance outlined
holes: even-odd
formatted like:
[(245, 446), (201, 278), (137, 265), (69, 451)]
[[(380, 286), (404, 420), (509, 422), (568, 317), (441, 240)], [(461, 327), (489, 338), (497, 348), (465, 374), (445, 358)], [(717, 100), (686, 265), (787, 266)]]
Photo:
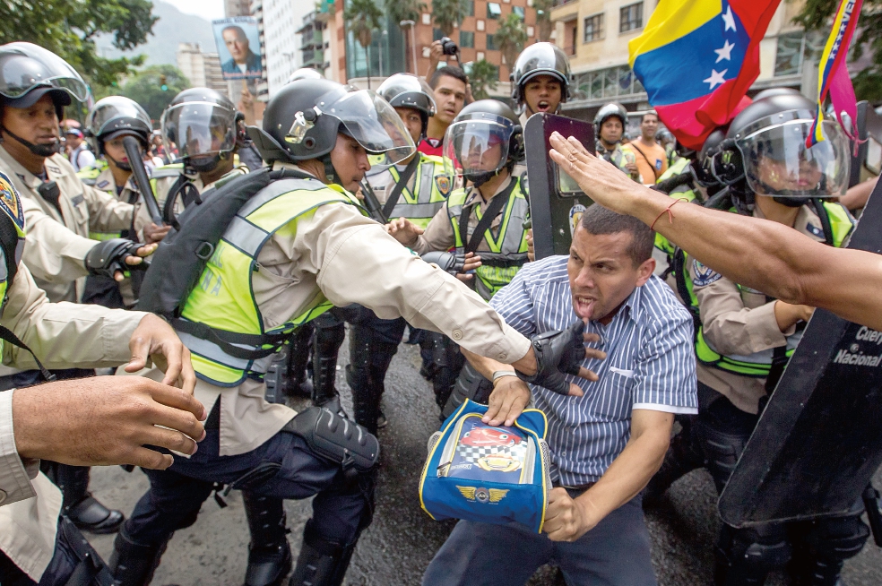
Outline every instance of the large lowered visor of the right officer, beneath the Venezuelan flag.
[(739, 151), (750, 189), (775, 197), (836, 197), (848, 188), (848, 139), (833, 121), (821, 123), (826, 140), (806, 148), (812, 120), (768, 125), (743, 139)]

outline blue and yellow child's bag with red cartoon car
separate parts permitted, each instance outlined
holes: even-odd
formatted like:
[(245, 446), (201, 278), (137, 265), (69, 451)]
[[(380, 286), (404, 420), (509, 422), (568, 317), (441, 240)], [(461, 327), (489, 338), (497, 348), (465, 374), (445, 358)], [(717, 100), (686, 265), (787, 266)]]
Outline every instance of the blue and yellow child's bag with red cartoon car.
[(492, 427), (486, 412), (466, 400), (429, 438), (419, 504), (436, 521), (515, 521), (540, 533), (551, 488), (545, 414), (524, 409), (514, 427)]

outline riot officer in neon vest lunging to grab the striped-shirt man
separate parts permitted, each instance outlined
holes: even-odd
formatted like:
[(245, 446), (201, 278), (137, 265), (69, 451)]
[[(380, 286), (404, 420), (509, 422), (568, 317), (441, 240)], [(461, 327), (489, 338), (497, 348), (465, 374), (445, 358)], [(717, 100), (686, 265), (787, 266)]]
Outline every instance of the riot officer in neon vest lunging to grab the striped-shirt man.
[[(269, 404), (262, 381), (272, 351), (332, 304), (359, 303), (385, 318), (407, 315), (521, 371), (532, 370), (537, 356), (480, 297), (366, 218), (350, 194), (370, 168), (368, 152), (398, 162), (415, 151), (384, 99), (336, 82), (299, 80), (270, 100), (263, 124), (249, 134), (272, 164), (265, 173), (277, 172), (269, 176), (277, 180), (239, 209), (201, 269), (199, 286), (178, 291), (180, 317), (172, 321), (195, 349), (195, 396), (210, 410), (207, 436), (191, 458), (175, 456), (169, 470), (147, 471), (150, 490), (120, 530), (109, 563), (122, 584), (149, 582), (172, 533), (195, 521), (218, 482), (262, 496), (315, 495), (290, 584), (342, 582), (370, 522), (376, 438), (328, 409), (297, 414)], [(224, 193), (238, 193), (256, 177), (238, 177), (214, 197), (228, 188)], [(151, 275), (163, 275), (152, 271), (180, 269), (154, 263), (145, 289)], [(559, 375), (543, 357), (536, 372), (540, 379)], [(284, 527), (266, 530), (281, 552), (288, 550)]]

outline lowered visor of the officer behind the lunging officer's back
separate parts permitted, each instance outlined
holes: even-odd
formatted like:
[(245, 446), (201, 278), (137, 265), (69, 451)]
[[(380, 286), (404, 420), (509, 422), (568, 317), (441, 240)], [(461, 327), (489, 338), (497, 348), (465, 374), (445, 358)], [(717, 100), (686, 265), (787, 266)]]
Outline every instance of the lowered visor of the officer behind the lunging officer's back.
[(185, 102), (162, 114), (166, 148), (177, 144), (181, 158), (214, 156), (236, 145), (236, 112), (212, 102)]

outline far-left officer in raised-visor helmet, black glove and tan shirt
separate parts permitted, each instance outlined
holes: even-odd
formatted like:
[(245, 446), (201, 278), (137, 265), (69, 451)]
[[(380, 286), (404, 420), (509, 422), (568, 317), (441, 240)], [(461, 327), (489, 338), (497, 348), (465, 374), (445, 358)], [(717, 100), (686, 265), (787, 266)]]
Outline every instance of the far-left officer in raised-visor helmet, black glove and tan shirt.
[[(134, 207), (115, 196), (83, 185), (70, 162), (59, 153), (59, 120), (72, 98), (84, 100), (88, 90), (73, 67), (48, 50), (30, 43), (0, 47), (0, 169), (22, 195), (30, 238), (22, 260), (50, 301), (76, 302), (85, 277), (108, 276), (108, 267), (136, 264), (151, 248), (131, 242), (88, 238), (89, 231), (113, 232), (131, 225)], [(90, 257), (101, 259), (90, 263)], [(3, 368), (0, 387), (10, 389), (41, 381), (38, 370)], [(58, 378), (93, 375), (67, 369)], [(82, 529), (113, 532), (123, 514), (96, 501), (88, 492), (89, 469), (53, 466), (56, 483), (65, 492), (65, 513)]]

